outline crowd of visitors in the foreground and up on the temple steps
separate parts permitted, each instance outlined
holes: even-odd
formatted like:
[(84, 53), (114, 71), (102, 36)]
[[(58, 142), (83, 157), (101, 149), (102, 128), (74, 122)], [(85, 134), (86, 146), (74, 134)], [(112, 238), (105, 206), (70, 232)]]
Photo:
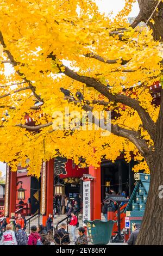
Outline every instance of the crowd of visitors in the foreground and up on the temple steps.
[[(85, 229), (79, 226), (77, 212), (82, 208), (82, 197), (77, 194), (74, 200), (66, 195), (56, 196), (54, 198), (54, 212), (58, 214), (66, 214), (68, 216), (68, 225), (71, 227), (72, 241), (70, 234), (66, 231), (67, 224), (61, 223), (61, 228), (56, 230), (53, 235), (53, 215), (49, 214), (46, 227), (43, 225), (33, 225), (30, 227), (29, 236), (26, 233), (27, 220), (21, 214), (17, 218), (12, 216), (7, 223), (4, 218), (0, 227), (0, 245), (68, 245), (73, 242), (75, 245), (87, 245), (87, 237)], [(76, 237), (78, 228), (79, 237)]]

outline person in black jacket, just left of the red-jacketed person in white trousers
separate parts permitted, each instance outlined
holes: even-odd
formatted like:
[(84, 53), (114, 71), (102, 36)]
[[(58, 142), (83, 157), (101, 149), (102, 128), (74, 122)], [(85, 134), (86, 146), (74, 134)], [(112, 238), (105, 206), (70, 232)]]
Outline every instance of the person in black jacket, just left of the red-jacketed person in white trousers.
[(66, 229), (66, 223), (62, 222), (61, 228), (55, 231), (54, 241), (56, 245), (68, 245), (68, 243), (70, 243), (69, 233), (65, 229)]

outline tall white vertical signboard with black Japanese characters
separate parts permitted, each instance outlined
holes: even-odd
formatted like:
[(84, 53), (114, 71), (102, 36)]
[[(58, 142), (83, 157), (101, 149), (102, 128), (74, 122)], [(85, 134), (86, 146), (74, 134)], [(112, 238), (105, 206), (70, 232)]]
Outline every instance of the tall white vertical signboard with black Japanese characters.
[(83, 222), (91, 220), (91, 181), (83, 182)]

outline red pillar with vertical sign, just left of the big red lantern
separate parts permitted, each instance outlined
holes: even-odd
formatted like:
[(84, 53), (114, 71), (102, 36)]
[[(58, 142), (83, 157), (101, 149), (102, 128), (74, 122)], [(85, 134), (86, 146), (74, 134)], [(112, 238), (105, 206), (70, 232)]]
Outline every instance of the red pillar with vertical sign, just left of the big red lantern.
[[(45, 163), (44, 163), (45, 164)], [(43, 202), (41, 202), (41, 213), (42, 210), (44, 209), (45, 213), (43, 214), (42, 217), (42, 224), (46, 225), (46, 221), (48, 218), (49, 214), (53, 215), (53, 194), (54, 194), (54, 159), (49, 160), (46, 163), (46, 177), (43, 176), (43, 169), (44, 167), (42, 167), (42, 179), (44, 179), (43, 182), (45, 182), (45, 184), (41, 184), (41, 190), (43, 189), (43, 186), (46, 185), (46, 191), (44, 193), (43, 196), (43, 191), (41, 191), (42, 195), (41, 195), (41, 200), (44, 200), (44, 204)]]

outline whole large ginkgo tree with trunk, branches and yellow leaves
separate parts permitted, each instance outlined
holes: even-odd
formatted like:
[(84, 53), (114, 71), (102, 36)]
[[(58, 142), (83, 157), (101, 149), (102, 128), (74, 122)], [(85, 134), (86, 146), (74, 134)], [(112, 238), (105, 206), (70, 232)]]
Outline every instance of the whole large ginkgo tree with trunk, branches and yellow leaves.
[[(134, 155), (134, 170), (151, 173), (137, 244), (162, 245), (163, 98), (155, 105), (150, 87), (162, 81), (163, 3), (138, 0), (130, 25), (134, 2), (112, 18), (93, 0), (1, 1), (0, 160), (16, 171), (28, 159), (28, 174), (39, 176), (42, 161), (57, 156), (98, 167)], [(54, 129), (67, 107), (70, 115), (111, 111), (111, 134), (95, 117), (93, 130)]]

